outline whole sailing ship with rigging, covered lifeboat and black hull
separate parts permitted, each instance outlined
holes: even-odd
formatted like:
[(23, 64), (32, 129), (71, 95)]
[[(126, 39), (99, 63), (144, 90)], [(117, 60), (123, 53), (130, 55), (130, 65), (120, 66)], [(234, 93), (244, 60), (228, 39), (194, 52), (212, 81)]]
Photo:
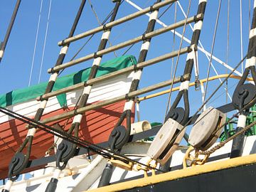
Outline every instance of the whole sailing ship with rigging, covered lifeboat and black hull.
[[(184, 3), (187, 12), (183, 11), (183, 3), (176, 0), (157, 0), (143, 9), (130, 0), (104, 2), (114, 7), (105, 21), (88, 31), (75, 33), (86, 3), (90, 4), (98, 19), (92, 2), (82, 0), (68, 38), (58, 42), (60, 53), (55, 66), (48, 69), (48, 82), (0, 95), (1, 190), (169, 191), (170, 188), (177, 191), (255, 191), (252, 179), (256, 169), (256, 1), (249, 4), (249, 10), (253, 5), (253, 14), (252, 19), (249, 18), (252, 25), (248, 32), (247, 54), (241, 54), (242, 58), (235, 60), (232, 67), (213, 55), (223, 6), (221, 0), (218, 3), (188, 1)], [(5, 48), (20, 4), (21, 0), (18, 0), (6, 38), (1, 43), (0, 58), (6, 54)], [(119, 16), (120, 10), (124, 11), (124, 4), (132, 5), (138, 11)], [(211, 15), (208, 16), (208, 6), (213, 5), (217, 8), (217, 16), (211, 51), (207, 52), (200, 40), (208, 33), (207, 28), (203, 28), (207, 19), (213, 20)], [(184, 14), (182, 19), (176, 18), (178, 6)], [(229, 27), (229, 1), (226, 6)], [(160, 18), (169, 9), (174, 9), (174, 23), (166, 25)], [(149, 19), (142, 35), (107, 46), (114, 28), (144, 15)], [(157, 28), (156, 23), (163, 27)], [(186, 30), (190, 25), (193, 30), (188, 33)], [(154, 50), (159, 50), (158, 54), (166, 50), (163, 41), (160, 45), (154, 44), (154, 40), (164, 36), (166, 41), (166, 34), (170, 31), (181, 38), (178, 45), (163, 55), (151, 53), (149, 56), (149, 47), (157, 46)], [(97, 33), (102, 33), (102, 36), (95, 52), (90, 48), (87, 55), (65, 61), (73, 42)], [(190, 40), (186, 36), (190, 36)], [(174, 43), (175, 38), (172, 41)], [(187, 41), (186, 46), (183, 41)], [(227, 44), (229, 46), (229, 40)], [(134, 45), (139, 45), (137, 54), (127, 55)], [(125, 51), (122, 56), (103, 60), (117, 50)], [(206, 54), (209, 63), (206, 78), (199, 76), (200, 51)], [(171, 79), (139, 88), (144, 68), (154, 65), (154, 76), (161, 76), (159, 65), (169, 59), (176, 64)], [(210, 67), (215, 70), (213, 60), (230, 71), (210, 77)], [(86, 61), (91, 62), (91, 67), (60, 75), (61, 70)], [(178, 66), (182, 62), (185, 65)], [(238, 71), (240, 65), (242, 72)], [(177, 75), (177, 68), (181, 68), (181, 75)], [(216, 85), (214, 80), (217, 79), (220, 84), (209, 87)], [(208, 102), (222, 85), (227, 85), (228, 80), (235, 82), (231, 89), (232, 101), (227, 102), (230, 90), (228, 92), (226, 86), (226, 102), (217, 97), (217, 105), (210, 107)], [(171, 88), (145, 95), (167, 86)], [(201, 97), (198, 94), (191, 97), (192, 87), (201, 90)], [(209, 90), (213, 92), (206, 97)], [(171, 95), (172, 92), (175, 95)], [(166, 93), (169, 93), (169, 98), (164, 121), (142, 121), (140, 102)], [(174, 100), (170, 102), (171, 98)], [(199, 102), (201, 98), (202, 103)], [(152, 115), (157, 113), (155, 105), (150, 111)]]

